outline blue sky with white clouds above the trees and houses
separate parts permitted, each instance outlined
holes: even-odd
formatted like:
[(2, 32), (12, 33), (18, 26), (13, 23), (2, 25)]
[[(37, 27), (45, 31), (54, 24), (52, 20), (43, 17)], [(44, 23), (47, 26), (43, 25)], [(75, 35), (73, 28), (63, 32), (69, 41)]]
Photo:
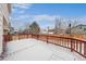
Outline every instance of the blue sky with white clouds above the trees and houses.
[(41, 28), (48, 26), (53, 28), (56, 18), (62, 20), (64, 27), (69, 20), (73, 22), (78, 20), (79, 23), (86, 22), (85, 3), (16, 3), (12, 4), (11, 25), (15, 29), (23, 28), (33, 22), (37, 22)]

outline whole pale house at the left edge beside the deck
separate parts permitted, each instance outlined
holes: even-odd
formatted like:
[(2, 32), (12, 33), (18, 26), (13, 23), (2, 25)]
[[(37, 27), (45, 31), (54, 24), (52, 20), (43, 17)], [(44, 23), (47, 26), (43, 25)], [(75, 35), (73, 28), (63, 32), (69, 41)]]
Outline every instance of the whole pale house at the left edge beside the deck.
[(3, 52), (3, 37), (2, 35), (8, 35), (9, 29), (9, 13), (11, 12), (11, 4), (0, 3), (0, 55)]

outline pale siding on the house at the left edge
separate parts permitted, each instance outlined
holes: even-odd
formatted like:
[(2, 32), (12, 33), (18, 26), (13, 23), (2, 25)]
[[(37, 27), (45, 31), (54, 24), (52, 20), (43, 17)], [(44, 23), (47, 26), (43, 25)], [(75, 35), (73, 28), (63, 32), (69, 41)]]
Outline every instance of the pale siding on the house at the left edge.
[[(3, 21), (3, 16), (4, 20)], [(7, 26), (9, 26), (9, 9), (7, 3), (0, 3), (0, 55), (2, 53), (3, 49), (3, 22)]]

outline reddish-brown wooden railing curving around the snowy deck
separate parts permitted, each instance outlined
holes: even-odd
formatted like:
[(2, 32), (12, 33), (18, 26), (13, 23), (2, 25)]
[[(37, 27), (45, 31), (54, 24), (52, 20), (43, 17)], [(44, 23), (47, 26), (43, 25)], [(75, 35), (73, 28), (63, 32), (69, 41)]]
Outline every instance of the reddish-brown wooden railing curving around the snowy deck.
[(71, 37), (61, 37), (53, 35), (4, 35), (4, 42), (24, 38), (35, 38), (48, 43), (53, 43), (70, 49), (72, 52), (75, 51), (82, 56), (86, 57), (86, 41), (71, 38)]

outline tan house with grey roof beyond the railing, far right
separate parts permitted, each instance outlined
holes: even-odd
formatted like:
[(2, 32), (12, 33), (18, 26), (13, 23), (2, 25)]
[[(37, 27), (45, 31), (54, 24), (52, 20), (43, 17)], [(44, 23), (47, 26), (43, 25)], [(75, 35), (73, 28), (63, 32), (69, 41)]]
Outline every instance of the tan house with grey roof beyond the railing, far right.
[(73, 35), (86, 35), (86, 25), (77, 25), (71, 28), (71, 34)]

